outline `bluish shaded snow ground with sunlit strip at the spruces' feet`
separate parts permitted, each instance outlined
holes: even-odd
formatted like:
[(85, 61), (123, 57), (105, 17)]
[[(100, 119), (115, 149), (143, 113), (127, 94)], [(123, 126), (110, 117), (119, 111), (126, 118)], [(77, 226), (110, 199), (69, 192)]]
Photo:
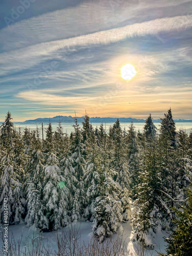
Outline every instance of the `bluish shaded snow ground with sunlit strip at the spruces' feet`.
[[(69, 229), (78, 230), (78, 240), (81, 244), (88, 244), (90, 243), (91, 239), (94, 237), (92, 232), (92, 222), (76, 222), (72, 223), (65, 228), (60, 228), (57, 231), (52, 232), (43, 232), (42, 239), (44, 241), (44, 245), (51, 248), (51, 251), (57, 251), (57, 243), (56, 238), (57, 236), (63, 236), (64, 234), (69, 233)], [(34, 230), (33, 227), (28, 227), (24, 223), (9, 226), (9, 238), (13, 235), (14, 239), (17, 241), (19, 238), (22, 237), (22, 243), (25, 246), (31, 246), (32, 240), (37, 239), (41, 236), (38, 230)], [(159, 231), (156, 233), (156, 238), (153, 239), (153, 244), (155, 245), (154, 250), (146, 250), (145, 255), (157, 255), (158, 252), (165, 252), (165, 242), (163, 237), (167, 237), (168, 234), (165, 231)], [(123, 223), (120, 225), (117, 234), (114, 234), (112, 239), (116, 241), (118, 238), (122, 239), (125, 242), (130, 254), (133, 255), (138, 251), (138, 244), (136, 242), (132, 242), (131, 238), (133, 237), (133, 228), (129, 222)], [(3, 241), (0, 241), (0, 246), (2, 247)]]

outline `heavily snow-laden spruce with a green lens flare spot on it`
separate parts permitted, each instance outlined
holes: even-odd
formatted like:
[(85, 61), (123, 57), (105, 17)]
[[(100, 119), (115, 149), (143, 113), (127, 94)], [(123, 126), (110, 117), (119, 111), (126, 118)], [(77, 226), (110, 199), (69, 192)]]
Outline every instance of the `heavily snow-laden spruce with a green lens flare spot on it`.
[(57, 230), (68, 223), (68, 195), (69, 189), (66, 187), (66, 179), (61, 175), (58, 167), (58, 159), (53, 152), (53, 131), (49, 123), (46, 131), (47, 137), (47, 160), (43, 168), (43, 198), (42, 203), (46, 207), (46, 217), (49, 220), (49, 229)]

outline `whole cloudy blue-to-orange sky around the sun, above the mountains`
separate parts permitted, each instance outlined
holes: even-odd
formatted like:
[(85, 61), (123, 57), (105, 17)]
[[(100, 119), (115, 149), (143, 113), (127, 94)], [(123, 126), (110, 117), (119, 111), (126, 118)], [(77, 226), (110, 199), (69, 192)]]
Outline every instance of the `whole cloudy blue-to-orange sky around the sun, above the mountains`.
[(192, 119), (191, 39), (192, 1), (1, 0), (0, 121)]

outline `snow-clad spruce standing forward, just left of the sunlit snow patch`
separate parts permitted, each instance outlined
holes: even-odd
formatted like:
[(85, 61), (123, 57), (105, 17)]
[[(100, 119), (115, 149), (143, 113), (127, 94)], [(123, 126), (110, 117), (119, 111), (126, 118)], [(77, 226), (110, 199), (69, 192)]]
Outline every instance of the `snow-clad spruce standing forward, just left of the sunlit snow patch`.
[(99, 197), (95, 200), (93, 231), (100, 242), (111, 236), (122, 221), (122, 207), (118, 200), (120, 187), (112, 178), (109, 169), (109, 152), (106, 147), (106, 133), (103, 134), (101, 164), (99, 168)]

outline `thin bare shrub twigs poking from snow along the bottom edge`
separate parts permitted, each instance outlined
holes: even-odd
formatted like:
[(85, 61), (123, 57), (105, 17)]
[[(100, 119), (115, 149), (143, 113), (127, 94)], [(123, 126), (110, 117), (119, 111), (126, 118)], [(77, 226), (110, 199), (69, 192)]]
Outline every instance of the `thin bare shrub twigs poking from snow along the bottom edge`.
[[(23, 234), (16, 239), (13, 237), (8, 241), (8, 252), (4, 251), (3, 245), (0, 246), (1, 256), (148, 256), (149, 251), (143, 250), (136, 244), (134, 251), (130, 252), (123, 239), (123, 234), (117, 239), (108, 238), (100, 243), (97, 238), (92, 237), (91, 241), (86, 245), (82, 242), (79, 232), (80, 226), (68, 226), (68, 232), (57, 233), (55, 241), (57, 250), (53, 252), (51, 243), (45, 245), (42, 233), (39, 236), (27, 238), (23, 241)], [(26, 239), (26, 238), (25, 238)], [(1, 232), (1, 240), (4, 242), (3, 233)]]

